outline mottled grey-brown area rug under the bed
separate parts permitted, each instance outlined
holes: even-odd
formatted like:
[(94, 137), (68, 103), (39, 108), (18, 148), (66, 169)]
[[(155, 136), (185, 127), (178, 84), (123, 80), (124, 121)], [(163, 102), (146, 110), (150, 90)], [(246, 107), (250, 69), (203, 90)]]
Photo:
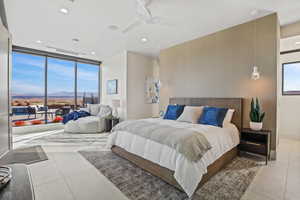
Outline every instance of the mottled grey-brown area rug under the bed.
[[(165, 183), (111, 151), (80, 151), (120, 191), (131, 200), (185, 200), (184, 192)], [(238, 200), (242, 197), (260, 164), (238, 157), (212, 177), (193, 200)]]

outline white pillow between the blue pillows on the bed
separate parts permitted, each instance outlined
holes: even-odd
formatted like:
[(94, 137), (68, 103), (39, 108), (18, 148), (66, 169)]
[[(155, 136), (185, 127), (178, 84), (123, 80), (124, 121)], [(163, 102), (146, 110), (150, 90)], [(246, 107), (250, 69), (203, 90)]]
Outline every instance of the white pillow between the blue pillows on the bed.
[(204, 106), (185, 106), (183, 113), (178, 117), (177, 121), (197, 124), (203, 108)]

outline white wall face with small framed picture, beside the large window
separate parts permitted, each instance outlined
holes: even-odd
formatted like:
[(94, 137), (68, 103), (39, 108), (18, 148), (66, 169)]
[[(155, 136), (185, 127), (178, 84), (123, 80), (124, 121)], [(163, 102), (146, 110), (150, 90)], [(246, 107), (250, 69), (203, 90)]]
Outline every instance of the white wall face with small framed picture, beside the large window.
[[(127, 118), (127, 52), (104, 59), (101, 66), (102, 103), (111, 105), (113, 99), (119, 99), (121, 107), (118, 113), (121, 120), (124, 120)], [(118, 79), (118, 94), (108, 95), (106, 84), (108, 80), (113, 79)]]

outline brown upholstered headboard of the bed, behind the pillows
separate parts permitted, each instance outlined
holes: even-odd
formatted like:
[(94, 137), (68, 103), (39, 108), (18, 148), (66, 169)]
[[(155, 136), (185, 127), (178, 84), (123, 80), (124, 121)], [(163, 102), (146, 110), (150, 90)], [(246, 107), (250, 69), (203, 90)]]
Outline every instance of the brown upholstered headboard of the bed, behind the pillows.
[(180, 104), (187, 106), (215, 106), (222, 108), (234, 109), (232, 123), (237, 128), (242, 130), (243, 123), (243, 99), (242, 98), (186, 98), (186, 97), (172, 97), (170, 104)]

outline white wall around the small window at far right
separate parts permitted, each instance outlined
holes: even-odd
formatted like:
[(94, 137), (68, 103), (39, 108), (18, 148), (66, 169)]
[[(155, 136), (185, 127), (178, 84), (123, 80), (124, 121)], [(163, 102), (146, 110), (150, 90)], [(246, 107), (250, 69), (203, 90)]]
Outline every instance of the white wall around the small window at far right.
[[(297, 48), (298, 38), (281, 40), (281, 51)], [(299, 47), (298, 47), (299, 48)], [(300, 53), (281, 55), (281, 64), (300, 61)], [(278, 132), (280, 136), (300, 139), (300, 96), (282, 95), (282, 65), (278, 68)], [(299, 77), (300, 78), (300, 77)]]

